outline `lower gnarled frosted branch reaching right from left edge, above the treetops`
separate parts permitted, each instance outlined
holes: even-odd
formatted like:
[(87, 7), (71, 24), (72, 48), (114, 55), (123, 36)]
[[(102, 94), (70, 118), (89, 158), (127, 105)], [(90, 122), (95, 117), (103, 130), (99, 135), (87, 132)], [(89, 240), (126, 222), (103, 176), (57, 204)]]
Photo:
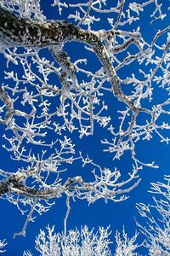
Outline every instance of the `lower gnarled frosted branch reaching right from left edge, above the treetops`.
[[(13, 193), (14, 195), (24, 196), (26, 198), (45, 200), (54, 199), (60, 197), (63, 193), (73, 192), (76, 193), (79, 198), (86, 198), (91, 195), (91, 197), (97, 196), (97, 198), (111, 199), (113, 201), (122, 201), (127, 197), (124, 194), (127, 194), (133, 188), (137, 187), (140, 179), (137, 180), (133, 185), (130, 185), (127, 189), (123, 187), (126, 183), (132, 181), (134, 177), (129, 177), (127, 181), (122, 183), (108, 182), (105, 181), (94, 181), (93, 183), (86, 183), (82, 180), (82, 177), (69, 177), (67, 181), (55, 188), (48, 189), (34, 189), (26, 186), (26, 183), (23, 183), (23, 179), (26, 179), (26, 173), (19, 173), (11, 175), (8, 178), (0, 181), (0, 196), (3, 196), (7, 193)], [(120, 199), (115, 199), (116, 195), (122, 195)], [(74, 196), (73, 194), (71, 196)]]

